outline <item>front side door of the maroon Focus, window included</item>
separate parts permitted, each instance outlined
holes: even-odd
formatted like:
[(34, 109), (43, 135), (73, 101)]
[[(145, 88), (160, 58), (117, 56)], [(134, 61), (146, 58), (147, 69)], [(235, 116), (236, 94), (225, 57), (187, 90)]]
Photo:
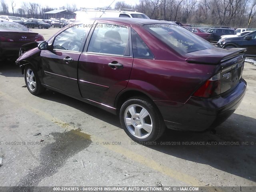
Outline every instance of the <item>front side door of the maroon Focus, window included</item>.
[(44, 84), (80, 96), (77, 67), (88, 30), (82, 24), (72, 26), (55, 37), (53, 50), (42, 50)]

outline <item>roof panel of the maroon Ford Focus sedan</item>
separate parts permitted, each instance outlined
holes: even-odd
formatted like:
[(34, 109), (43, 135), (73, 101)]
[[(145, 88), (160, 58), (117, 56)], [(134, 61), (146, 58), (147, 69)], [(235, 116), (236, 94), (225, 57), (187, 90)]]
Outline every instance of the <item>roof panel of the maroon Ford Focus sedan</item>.
[(148, 24), (171, 24), (179, 26), (175, 23), (171, 23), (168, 21), (160, 21), (154, 19), (140, 19), (140, 18), (125, 18), (125, 17), (118, 17), (118, 18), (90, 18), (90, 20), (105, 20), (105, 21), (114, 21), (114, 22), (122, 22), (126, 24), (140, 24), (140, 25), (148, 25)]

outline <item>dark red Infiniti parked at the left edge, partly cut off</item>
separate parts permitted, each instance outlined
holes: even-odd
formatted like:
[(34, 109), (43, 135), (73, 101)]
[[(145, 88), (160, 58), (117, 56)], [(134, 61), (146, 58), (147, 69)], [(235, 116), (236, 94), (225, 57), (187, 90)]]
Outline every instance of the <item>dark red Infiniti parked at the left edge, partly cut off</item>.
[(25, 26), (3, 20), (0, 20), (0, 25), (0, 60), (16, 60), (22, 45), (44, 40), (42, 35)]

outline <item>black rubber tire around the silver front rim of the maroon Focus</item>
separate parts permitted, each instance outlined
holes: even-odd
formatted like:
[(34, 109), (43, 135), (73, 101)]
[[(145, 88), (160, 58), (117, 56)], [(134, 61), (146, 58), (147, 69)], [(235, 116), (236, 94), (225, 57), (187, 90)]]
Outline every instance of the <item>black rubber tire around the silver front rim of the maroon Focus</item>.
[[(28, 81), (27, 81), (28, 71), (30, 72), (30, 70), (34, 74), (34, 78), (32, 78), (32, 80), (34, 80), (36, 82), (36, 86), (33, 86), (34, 89), (30, 88)], [(30, 72), (30, 74), (32, 74), (32, 73)], [(31, 94), (38, 95), (38, 94), (44, 92), (45, 88), (42, 86), (42, 84), (39, 80), (38, 74), (36, 73), (36, 70), (34, 69), (34, 67), (32, 67), (29, 64), (27, 64), (24, 68), (24, 79), (25, 79), (27, 89)]]

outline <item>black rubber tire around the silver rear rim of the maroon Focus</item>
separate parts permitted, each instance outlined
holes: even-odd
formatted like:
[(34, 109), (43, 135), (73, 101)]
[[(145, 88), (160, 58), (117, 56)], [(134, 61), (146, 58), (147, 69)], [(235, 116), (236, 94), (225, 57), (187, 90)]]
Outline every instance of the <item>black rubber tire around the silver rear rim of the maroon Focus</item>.
[[(130, 107), (133, 104), (139, 105), (139, 106), (142, 106), (143, 108), (145, 108), (147, 110), (148, 114), (151, 117), (150, 121), (152, 120), (152, 131), (146, 138), (136, 137), (134, 134), (132, 134), (128, 130), (128, 127), (126, 126), (126, 124), (124, 122), (124, 118), (125, 118), (124, 114), (125, 114), (127, 108)], [(140, 107), (138, 107), (138, 108), (140, 108)], [(158, 138), (160, 138), (160, 136), (162, 136), (162, 134), (164, 133), (164, 130), (166, 128), (166, 125), (164, 123), (164, 120), (163, 120), (162, 115), (160, 114), (160, 111), (158, 110), (158, 108), (153, 104), (153, 102), (151, 100), (143, 98), (143, 97), (134, 97), (134, 98), (130, 98), (130, 99), (126, 100), (124, 102), (124, 104), (122, 104), (122, 107), (120, 109), (119, 118), (120, 118), (122, 128), (124, 129), (126, 134), (132, 140), (134, 140), (136, 142), (152, 142), (152, 141), (155, 141)], [(136, 125), (138, 125), (138, 124), (136, 124)], [(142, 125), (143, 125), (143, 123), (142, 123)], [(138, 126), (140, 126), (140, 125), (138, 125)], [(134, 127), (134, 125), (132, 125), (130, 127)], [(135, 132), (135, 128), (134, 128), (134, 132)], [(140, 131), (140, 133), (141, 132), (142, 131)], [(146, 134), (148, 134), (148, 133), (146, 132)]]

